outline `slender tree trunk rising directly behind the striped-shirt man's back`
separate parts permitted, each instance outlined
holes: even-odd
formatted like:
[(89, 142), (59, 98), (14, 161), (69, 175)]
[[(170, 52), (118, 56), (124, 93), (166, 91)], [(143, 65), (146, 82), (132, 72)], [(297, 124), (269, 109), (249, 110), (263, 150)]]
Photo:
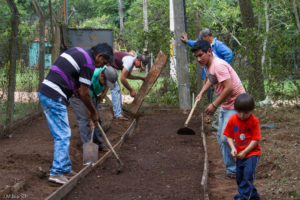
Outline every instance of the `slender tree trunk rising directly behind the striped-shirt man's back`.
[(39, 6), (37, 0), (32, 0), (35, 11), (39, 15), (40, 23), (40, 54), (39, 54), (39, 85), (44, 80), (45, 73), (45, 16), (42, 8)]

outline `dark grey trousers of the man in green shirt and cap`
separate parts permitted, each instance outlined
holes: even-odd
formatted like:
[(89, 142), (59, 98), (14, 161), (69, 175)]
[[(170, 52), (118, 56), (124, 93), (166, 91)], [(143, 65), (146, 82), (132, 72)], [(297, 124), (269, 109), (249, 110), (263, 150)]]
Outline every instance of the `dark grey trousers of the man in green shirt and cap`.
[[(93, 104), (97, 110), (98, 118), (100, 121), (100, 112), (98, 110), (98, 103), (95, 98), (92, 99)], [(80, 133), (80, 138), (82, 143), (89, 142), (91, 140), (91, 127), (90, 127), (90, 116), (87, 111), (86, 106), (84, 103), (77, 97), (73, 96), (70, 98), (70, 102), (72, 105), (72, 108), (74, 109), (76, 119), (78, 122), (78, 128), (79, 128), (79, 133)], [(101, 124), (101, 122), (100, 122)], [(98, 127), (95, 127), (95, 132), (94, 132), (94, 138), (95, 143), (98, 144), (101, 148), (104, 148), (103, 140), (102, 140), (102, 134), (101, 131), (98, 129)]]

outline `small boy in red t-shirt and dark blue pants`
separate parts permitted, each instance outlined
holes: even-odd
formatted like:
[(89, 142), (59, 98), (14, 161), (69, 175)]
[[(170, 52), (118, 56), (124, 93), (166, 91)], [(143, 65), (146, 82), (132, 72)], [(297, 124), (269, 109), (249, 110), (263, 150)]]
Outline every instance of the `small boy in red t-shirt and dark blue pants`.
[(240, 94), (234, 102), (237, 114), (230, 117), (224, 135), (227, 136), (231, 155), (236, 158), (236, 182), (239, 194), (235, 200), (259, 200), (253, 184), (255, 169), (260, 157), (261, 133), (258, 119), (252, 114), (254, 99), (249, 94)]

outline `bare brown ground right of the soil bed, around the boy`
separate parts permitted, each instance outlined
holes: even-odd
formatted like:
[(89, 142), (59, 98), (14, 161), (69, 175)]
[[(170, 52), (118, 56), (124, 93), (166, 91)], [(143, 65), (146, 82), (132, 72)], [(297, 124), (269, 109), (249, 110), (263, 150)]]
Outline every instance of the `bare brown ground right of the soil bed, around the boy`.
[[(262, 200), (300, 199), (300, 107), (258, 108), (254, 114), (260, 124), (274, 124), (280, 129), (263, 129), (261, 158), (255, 185)], [(208, 126), (209, 127), (209, 126)], [(209, 197), (233, 199), (236, 181), (217, 178), (225, 173), (222, 155), (215, 136), (208, 132)]]

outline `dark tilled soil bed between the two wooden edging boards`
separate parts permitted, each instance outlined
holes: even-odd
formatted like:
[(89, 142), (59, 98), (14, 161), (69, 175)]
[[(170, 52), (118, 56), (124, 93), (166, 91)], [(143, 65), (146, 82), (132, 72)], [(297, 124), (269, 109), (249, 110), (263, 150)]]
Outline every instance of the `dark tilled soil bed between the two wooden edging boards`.
[(65, 199), (203, 199), (203, 146), (200, 120), (189, 127), (196, 135), (177, 135), (187, 115), (155, 112), (140, 117), (134, 136), (118, 151), (125, 168), (116, 174), (110, 158), (92, 171)]

